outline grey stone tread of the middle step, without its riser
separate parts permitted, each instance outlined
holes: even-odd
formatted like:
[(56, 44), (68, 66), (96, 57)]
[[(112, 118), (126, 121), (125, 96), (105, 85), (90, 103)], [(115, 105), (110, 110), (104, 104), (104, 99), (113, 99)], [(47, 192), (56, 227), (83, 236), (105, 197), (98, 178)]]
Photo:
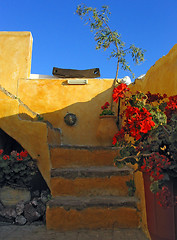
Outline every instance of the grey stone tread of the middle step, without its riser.
[(83, 177), (111, 177), (126, 176), (132, 172), (132, 168), (117, 168), (114, 166), (91, 166), (77, 168), (55, 168), (51, 169), (51, 177), (83, 178)]

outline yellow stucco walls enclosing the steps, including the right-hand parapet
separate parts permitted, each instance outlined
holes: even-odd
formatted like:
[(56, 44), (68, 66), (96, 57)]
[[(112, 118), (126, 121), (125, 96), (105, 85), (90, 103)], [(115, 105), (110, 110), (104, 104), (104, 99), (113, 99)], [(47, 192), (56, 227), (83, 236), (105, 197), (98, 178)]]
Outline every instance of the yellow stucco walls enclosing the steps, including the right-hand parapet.
[[(32, 36), (29, 32), (0, 32), (0, 85), (19, 97), (33, 111), (42, 114), (54, 127), (62, 130), (62, 143), (100, 145), (96, 138), (100, 107), (111, 101), (113, 80), (89, 79), (88, 85), (67, 85), (67, 79), (29, 79)], [(150, 68), (143, 80), (136, 80), (132, 91), (177, 94), (177, 44)], [(0, 127), (26, 148), (50, 184), (50, 154), (47, 125), (20, 120), (18, 113), (30, 112), (16, 99), (0, 92)], [(64, 116), (72, 112), (77, 124), (69, 127)], [(31, 116), (34, 117), (34, 116)], [(146, 229), (145, 200), (141, 174), (136, 176), (137, 195), (141, 198), (142, 226)]]

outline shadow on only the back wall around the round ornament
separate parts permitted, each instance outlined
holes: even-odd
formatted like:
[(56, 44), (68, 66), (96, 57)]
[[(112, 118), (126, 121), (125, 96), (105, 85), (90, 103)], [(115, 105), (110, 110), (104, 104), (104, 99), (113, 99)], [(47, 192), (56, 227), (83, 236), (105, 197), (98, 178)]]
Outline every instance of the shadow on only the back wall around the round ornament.
[[(47, 99), (47, 96), (44, 96), (44, 99), (45, 97)], [(61, 129), (62, 144), (100, 146), (101, 144), (96, 137), (96, 132), (99, 125), (101, 106), (103, 106), (106, 101), (110, 103), (111, 98), (112, 88), (98, 94), (89, 101), (76, 102), (53, 112), (40, 112), (41, 109), (44, 109), (42, 104), (45, 102), (38, 102), (39, 107), (35, 109), (35, 111), (40, 112), (44, 121), (49, 121), (53, 127)], [(62, 106), (60, 103), (58, 103), (58, 105), (59, 107)], [(33, 109), (32, 103), (31, 106), (28, 106)], [(117, 115), (116, 104), (113, 105), (113, 111), (115, 115)], [(76, 124), (73, 126), (67, 125), (64, 121), (64, 117), (68, 113), (76, 115)], [(20, 117), (26, 120), (29, 119), (29, 116), (25, 114), (20, 114)]]

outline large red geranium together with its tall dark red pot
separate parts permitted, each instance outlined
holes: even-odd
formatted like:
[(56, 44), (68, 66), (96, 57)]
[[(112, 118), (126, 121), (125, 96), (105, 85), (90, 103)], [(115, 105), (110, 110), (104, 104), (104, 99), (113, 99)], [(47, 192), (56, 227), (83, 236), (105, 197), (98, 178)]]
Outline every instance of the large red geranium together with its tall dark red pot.
[(125, 98), (123, 115), (113, 138), (122, 146), (115, 165), (143, 173), (151, 239), (176, 239), (177, 96), (137, 92)]

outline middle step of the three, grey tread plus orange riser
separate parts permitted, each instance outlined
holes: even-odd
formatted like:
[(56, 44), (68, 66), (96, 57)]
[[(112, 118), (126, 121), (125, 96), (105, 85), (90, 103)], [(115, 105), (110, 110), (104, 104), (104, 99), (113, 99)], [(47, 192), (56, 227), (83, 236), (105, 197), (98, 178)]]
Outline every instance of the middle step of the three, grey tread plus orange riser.
[(52, 196), (127, 196), (126, 182), (132, 169), (124, 167), (81, 167), (51, 170)]

